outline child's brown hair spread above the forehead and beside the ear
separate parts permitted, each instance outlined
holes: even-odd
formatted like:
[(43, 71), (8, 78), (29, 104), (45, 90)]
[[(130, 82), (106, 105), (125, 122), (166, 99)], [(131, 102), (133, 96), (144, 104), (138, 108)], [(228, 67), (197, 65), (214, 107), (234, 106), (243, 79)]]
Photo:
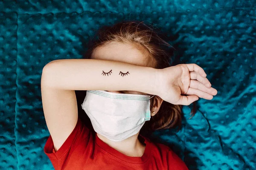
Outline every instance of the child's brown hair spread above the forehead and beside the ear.
[[(108, 42), (122, 42), (135, 45), (148, 58), (148, 67), (162, 69), (172, 66), (172, 45), (160, 38), (160, 32), (157, 34), (156, 28), (153, 31), (143, 21), (124, 21), (116, 23), (113, 26), (103, 26), (97, 31), (97, 37), (94, 37), (88, 44), (88, 50), (84, 54), (85, 59), (90, 59), (93, 51)], [(166, 48), (167, 47), (167, 48)], [(175, 49), (175, 48), (174, 48)], [(152, 100), (153, 98), (151, 98)], [(196, 102), (196, 101), (195, 101)], [(195, 115), (195, 102), (191, 112)], [(150, 110), (152, 102), (150, 102)], [(175, 128), (179, 125), (181, 128), (183, 105), (173, 105), (163, 101), (160, 110), (155, 116), (151, 116), (150, 121), (146, 121), (140, 133), (151, 134), (154, 130)], [(176, 132), (176, 133), (177, 133)]]

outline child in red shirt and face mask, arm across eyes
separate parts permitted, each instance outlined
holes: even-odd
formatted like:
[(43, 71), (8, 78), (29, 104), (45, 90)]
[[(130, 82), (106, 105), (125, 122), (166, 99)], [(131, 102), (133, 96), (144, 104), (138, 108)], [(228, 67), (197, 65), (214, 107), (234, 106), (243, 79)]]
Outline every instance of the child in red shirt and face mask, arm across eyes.
[[(173, 128), (181, 122), (181, 105), (212, 99), (217, 91), (204, 70), (170, 67), (171, 56), (160, 47), (169, 44), (144, 23), (103, 27), (98, 37), (86, 59), (54, 60), (43, 69), (50, 133), (44, 152), (55, 170), (188, 170), (169, 147), (140, 130)], [(95, 132), (78, 117), (75, 90), (87, 91), (81, 107)]]

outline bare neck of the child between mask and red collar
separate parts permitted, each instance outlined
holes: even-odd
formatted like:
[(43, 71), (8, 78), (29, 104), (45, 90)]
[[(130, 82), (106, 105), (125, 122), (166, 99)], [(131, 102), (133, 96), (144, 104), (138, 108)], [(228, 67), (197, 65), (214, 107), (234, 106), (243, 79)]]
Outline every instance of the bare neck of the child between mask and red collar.
[(110, 147), (126, 156), (141, 157), (145, 151), (145, 144), (142, 144), (138, 139), (139, 133), (119, 142), (111, 141), (99, 133), (96, 133), (96, 135)]

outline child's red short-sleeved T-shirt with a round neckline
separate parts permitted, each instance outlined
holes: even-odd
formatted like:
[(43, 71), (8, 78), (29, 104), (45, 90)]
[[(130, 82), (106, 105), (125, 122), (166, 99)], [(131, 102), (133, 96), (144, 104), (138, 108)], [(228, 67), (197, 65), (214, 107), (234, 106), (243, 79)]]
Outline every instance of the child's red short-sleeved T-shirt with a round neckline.
[(143, 156), (126, 156), (99, 139), (78, 118), (76, 127), (59, 150), (55, 152), (49, 136), (44, 153), (55, 170), (188, 170), (168, 146), (141, 137), (146, 144)]

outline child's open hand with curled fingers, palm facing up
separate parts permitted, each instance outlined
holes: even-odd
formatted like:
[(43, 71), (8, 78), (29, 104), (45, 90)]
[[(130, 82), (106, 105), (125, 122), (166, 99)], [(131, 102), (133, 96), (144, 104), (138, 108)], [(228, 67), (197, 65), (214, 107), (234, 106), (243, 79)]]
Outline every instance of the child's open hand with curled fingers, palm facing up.
[(211, 100), (218, 93), (211, 87), (204, 69), (196, 64), (179, 64), (158, 71), (156, 95), (174, 105), (190, 105), (199, 97)]

